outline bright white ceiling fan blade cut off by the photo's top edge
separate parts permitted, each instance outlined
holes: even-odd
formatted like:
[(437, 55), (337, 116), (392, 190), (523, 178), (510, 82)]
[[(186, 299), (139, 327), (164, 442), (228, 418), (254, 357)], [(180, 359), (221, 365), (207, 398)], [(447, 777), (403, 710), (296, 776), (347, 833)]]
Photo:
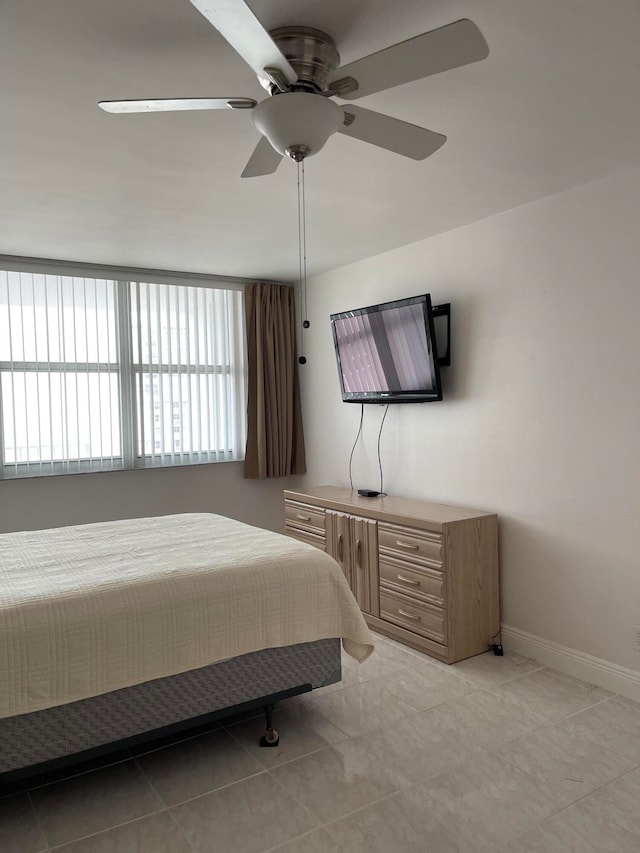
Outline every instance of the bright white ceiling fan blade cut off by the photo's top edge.
[(293, 67), (243, 0), (191, 0), (191, 3), (258, 76), (263, 77), (265, 70), (276, 71), (286, 82), (296, 82), (298, 75)]

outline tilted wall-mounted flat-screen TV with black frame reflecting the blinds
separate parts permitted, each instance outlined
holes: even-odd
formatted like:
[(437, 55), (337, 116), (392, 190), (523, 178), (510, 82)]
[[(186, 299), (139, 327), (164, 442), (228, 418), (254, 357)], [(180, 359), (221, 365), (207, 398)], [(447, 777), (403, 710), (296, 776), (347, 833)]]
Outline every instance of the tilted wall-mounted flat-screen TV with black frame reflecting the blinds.
[(331, 315), (346, 403), (442, 400), (429, 294)]

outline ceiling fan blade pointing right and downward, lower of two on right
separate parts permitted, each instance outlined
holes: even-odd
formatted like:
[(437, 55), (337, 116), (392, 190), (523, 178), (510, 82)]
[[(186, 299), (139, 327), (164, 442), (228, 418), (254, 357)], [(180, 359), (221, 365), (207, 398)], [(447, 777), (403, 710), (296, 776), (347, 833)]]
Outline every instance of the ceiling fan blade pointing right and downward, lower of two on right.
[(424, 160), (447, 141), (441, 133), (362, 107), (345, 107), (344, 114), (345, 124), (338, 128), (339, 133), (412, 160)]

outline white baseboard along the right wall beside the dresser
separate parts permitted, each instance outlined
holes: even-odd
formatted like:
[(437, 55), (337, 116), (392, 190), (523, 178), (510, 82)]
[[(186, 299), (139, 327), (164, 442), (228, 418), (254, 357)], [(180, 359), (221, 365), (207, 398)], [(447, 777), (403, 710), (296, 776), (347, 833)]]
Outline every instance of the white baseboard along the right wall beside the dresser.
[(510, 625), (502, 625), (502, 645), (508, 651), (533, 658), (566, 675), (640, 702), (640, 671), (637, 669), (618, 666)]

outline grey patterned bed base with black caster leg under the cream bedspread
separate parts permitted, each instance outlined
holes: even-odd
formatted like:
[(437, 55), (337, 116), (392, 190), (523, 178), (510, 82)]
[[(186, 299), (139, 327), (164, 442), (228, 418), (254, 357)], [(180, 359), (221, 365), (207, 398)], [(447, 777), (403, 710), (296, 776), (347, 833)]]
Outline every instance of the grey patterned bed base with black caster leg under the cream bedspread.
[[(79, 762), (126, 751), (263, 708), (277, 746), (276, 702), (341, 678), (340, 641), (264, 649), (45, 711), (0, 720), (0, 793)], [(77, 772), (74, 770), (74, 772)], [(42, 784), (40, 781), (38, 784)], [(33, 781), (29, 787), (33, 786)]]

